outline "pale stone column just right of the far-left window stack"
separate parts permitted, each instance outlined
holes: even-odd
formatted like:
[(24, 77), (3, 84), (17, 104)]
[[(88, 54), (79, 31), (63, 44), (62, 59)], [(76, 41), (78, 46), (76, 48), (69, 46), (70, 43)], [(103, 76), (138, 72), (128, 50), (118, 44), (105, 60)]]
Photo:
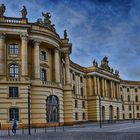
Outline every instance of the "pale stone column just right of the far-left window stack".
[(21, 62), (21, 72), (22, 76), (28, 75), (28, 37), (27, 35), (21, 35), (21, 56), (22, 56), (22, 62)]

